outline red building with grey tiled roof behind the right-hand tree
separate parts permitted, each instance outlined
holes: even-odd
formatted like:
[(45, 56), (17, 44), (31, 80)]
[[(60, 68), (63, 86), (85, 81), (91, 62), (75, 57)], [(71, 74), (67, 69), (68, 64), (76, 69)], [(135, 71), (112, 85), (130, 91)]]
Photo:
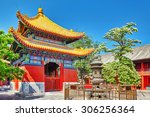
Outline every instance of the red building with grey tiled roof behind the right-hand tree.
[[(141, 90), (150, 89), (150, 44), (133, 48), (132, 53), (126, 54), (134, 64), (137, 72), (141, 77)], [(112, 53), (101, 56), (102, 63), (114, 61)]]

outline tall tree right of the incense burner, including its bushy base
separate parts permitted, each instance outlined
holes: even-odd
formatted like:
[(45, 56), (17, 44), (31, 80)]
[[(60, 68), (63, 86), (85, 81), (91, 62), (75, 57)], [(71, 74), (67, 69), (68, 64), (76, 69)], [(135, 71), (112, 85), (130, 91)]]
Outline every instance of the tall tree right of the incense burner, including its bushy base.
[(135, 44), (140, 43), (139, 40), (128, 38), (129, 35), (138, 31), (135, 26), (135, 23), (127, 23), (123, 27), (111, 29), (104, 36), (104, 38), (115, 42), (114, 48), (108, 50), (114, 54), (115, 61), (103, 65), (102, 74), (106, 81), (112, 83), (119, 81), (121, 84), (129, 85), (139, 84), (140, 77), (134, 68), (134, 63), (125, 56), (132, 52), (132, 47)]

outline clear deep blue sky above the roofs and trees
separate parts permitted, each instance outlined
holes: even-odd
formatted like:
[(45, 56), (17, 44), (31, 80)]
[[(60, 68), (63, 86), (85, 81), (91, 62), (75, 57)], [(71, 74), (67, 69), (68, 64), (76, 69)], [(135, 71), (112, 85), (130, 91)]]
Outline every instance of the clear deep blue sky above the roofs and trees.
[[(138, 32), (131, 37), (150, 44), (149, 0), (3, 0), (0, 4), (0, 30), (17, 28), (16, 12), (28, 16), (44, 14), (57, 24), (75, 31), (85, 32), (94, 41), (107, 42), (106, 32), (127, 22), (135, 22)], [(108, 43), (110, 46), (112, 43)]]

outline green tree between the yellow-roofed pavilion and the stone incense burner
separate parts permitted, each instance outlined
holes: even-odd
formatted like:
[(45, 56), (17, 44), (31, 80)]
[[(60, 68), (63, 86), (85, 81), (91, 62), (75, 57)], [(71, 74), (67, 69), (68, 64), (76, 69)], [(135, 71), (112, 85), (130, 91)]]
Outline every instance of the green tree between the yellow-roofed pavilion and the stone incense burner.
[(94, 48), (94, 52), (88, 56), (75, 58), (74, 66), (78, 70), (79, 76), (83, 79), (84, 75), (91, 72), (90, 62), (95, 54), (99, 54), (100, 51), (105, 48), (105, 44), (100, 44), (99, 42), (93, 42), (88, 36), (80, 39), (71, 44), (73, 48)]

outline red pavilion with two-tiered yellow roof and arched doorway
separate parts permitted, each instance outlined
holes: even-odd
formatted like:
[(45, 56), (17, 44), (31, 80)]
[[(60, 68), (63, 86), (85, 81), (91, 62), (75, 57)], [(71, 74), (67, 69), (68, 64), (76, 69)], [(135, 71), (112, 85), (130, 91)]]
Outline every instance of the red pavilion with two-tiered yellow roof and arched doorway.
[(63, 82), (77, 82), (73, 67), (76, 57), (94, 49), (70, 48), (67, 44), (83, 38), (84, 33), (67, 30), (46, 17), (42, 8), (34, 17), (17, 12), (18, 29), (10, 28), (15, 38), (11, 49), (20, 54), (13, 65), (25, 71), (23, 79), (11, 82), (13, 89), (25, 93), (62, 90)]

